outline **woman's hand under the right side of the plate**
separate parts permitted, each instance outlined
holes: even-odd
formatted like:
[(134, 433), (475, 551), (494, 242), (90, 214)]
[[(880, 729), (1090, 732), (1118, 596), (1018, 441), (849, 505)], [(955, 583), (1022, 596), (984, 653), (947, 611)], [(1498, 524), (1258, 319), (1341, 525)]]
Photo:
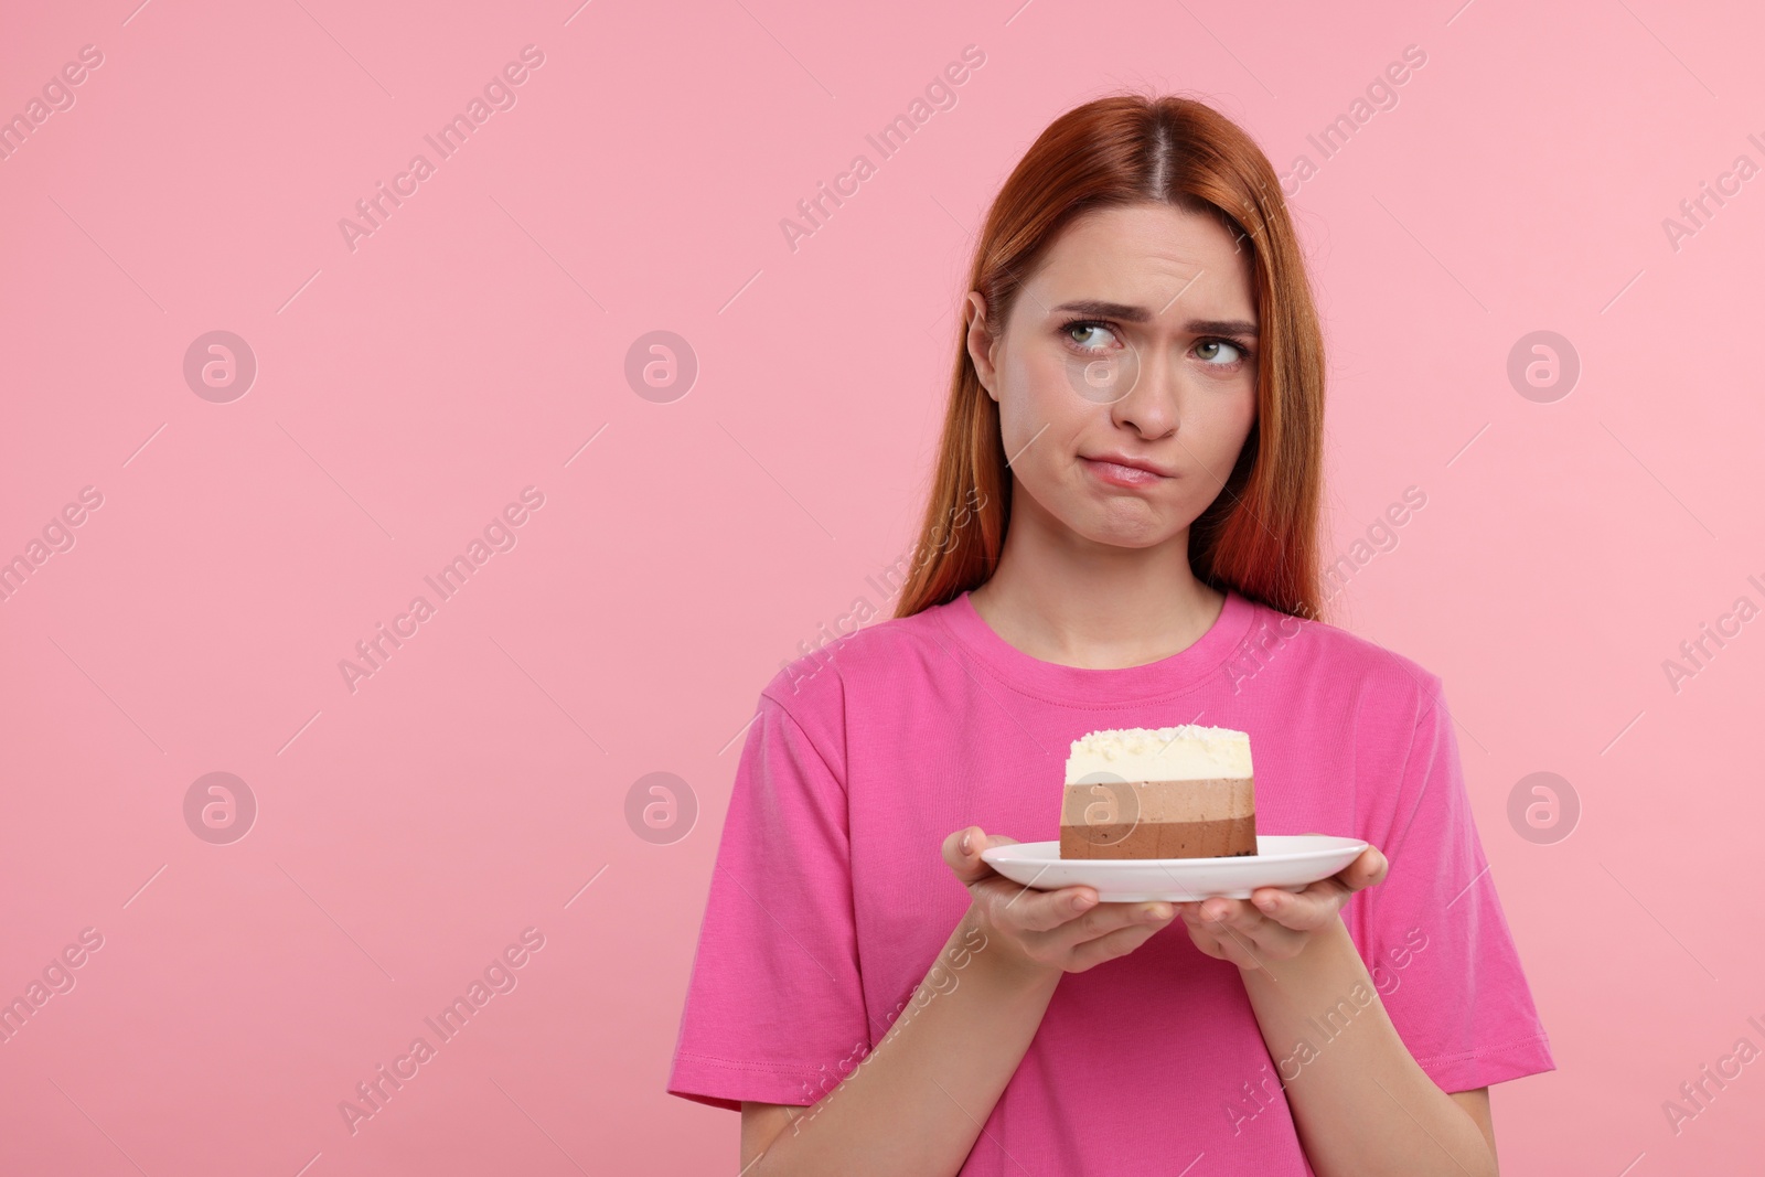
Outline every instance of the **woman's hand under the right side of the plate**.
[(1257, 888), (1248, 900), (1214, 895), (1177, 903), (1195, 948), (1239, 969), (1262, 969), (1266, 960), (1292, 960), (1311, 937), (1340, 919), (1343, 903), (1356, 891), (1384, 881), (1386, 856), (1368, 845), (1361, 856), (1329, 879), (1304, 891)]

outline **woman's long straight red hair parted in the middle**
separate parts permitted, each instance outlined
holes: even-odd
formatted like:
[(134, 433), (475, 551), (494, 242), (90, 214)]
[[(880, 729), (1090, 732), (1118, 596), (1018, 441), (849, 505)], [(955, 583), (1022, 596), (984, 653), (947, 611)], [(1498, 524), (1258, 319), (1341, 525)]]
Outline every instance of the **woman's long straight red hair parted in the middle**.
[[(1324, 337), (1280, 182), (1237, 124), (1174, 95), (1110, 95), (1061, 115), (994, 199), (969, 289), (987, 300), (992, 330), (1003, 330), (1061, 229), (1089, 210), (1145, 201), (1220, 217), (1251, 256), (1257, 420), (1225, 487), (1190, 526), (1190, 568), (1214, 589), (1322, 619)], [(983, 584), (1011, 522), (999, 404), (981, 386), (965, 337), (958, 325), (944, 436), (897, 618)]]

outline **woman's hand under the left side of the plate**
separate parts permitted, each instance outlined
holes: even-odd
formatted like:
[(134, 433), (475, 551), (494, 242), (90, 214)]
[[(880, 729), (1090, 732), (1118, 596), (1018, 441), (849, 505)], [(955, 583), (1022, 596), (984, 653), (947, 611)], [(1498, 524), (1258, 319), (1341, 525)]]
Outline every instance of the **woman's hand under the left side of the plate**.
[(1091, 886), (1036, 891), (981, 861), (983, 849), (1015, 842), (967, 826), (944, 838), (944, 863), (974, 896), (964, 923), (1031, 972), (1084, 972), (1126, 956), (1175, 916), (1175, 905), (1165, 902), (1100, 903)]

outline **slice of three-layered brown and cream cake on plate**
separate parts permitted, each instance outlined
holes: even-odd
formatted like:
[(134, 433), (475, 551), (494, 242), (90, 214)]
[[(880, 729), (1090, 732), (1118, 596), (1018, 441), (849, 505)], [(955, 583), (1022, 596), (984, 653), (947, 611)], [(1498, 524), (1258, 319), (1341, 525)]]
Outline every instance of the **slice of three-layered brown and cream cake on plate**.
[(1257, 852), (1250, 736), (1130, 727), (1073, 741), (1061, 858), (1230, 858)]

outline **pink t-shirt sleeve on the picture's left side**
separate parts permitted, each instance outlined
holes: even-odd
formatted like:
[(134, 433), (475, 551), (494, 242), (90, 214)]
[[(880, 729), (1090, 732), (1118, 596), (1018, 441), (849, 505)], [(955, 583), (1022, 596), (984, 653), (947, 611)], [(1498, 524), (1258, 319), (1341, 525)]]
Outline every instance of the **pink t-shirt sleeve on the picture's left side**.
[(817, 746), (761, 695), (711, 870), (669, 1094), (734, 1110), (743, 1099), (807, 1106), (868, 1052), (842, 753)]

